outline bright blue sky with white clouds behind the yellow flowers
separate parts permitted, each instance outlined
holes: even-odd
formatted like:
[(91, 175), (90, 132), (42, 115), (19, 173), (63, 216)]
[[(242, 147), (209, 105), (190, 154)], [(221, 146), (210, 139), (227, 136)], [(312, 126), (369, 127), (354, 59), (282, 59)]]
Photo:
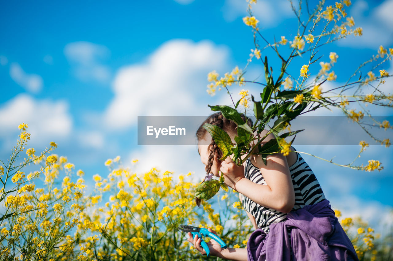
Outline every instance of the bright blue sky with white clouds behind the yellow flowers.
[[(104, 161), (118, 155), (125, 165), (138, 158), (136, 171), (157, 166), (175, 175), (193, 171), (196, 177), (203, 176), (195, 146), (138, 146), (136, 117), (207, 116), (208, 104), (228, 104), (225, 92), (207, 94), (206, 76), (214, 69), (224, 74), (246, 64), (254, 48), (252, 31), (242, 22), (246, 4), (245, 0), (2, 1), (1, 158), (9, 156), (17, 126), (25, 122), (32, 134), (29, 147), (39, 151), (50, 141), (57, 142), (55, 153), (83, 169), (86, 179), (105, 175)], [(254, 10), (268, 40), (281, 35), (293, 39), (297, 22), (288, 1), (258, 1)], [(364, 35), (321, 48), (325, 60), (330, 51), (339, 55), (334, 65), (337, 84), (376, 54), (380, 45), (393, 47), (392, 11), (392, 0), (353, 1), (348, 13)], [(294, 68), (302, 64), (296, 60)], [(393, 73), (391, 64), (384, 68)], [(262, 69), (254, 59), (248, 75), (258, 76)], [(391, 86), (387, 81), (385, 87)], [(260, 91), (257, 86), (246, 87), (254, 95)], [(392, 116), (391, 109), (373, 108), (373, 112)], [(359, 146), (296, 149), (348, 163)], [(359, 164), (371, 158), (384, 164), (377, 173), (304, 157), (334, 207), (372, 221), (374, 210), (388, 212), (393, 206), (392, 155), (392, 149), (382, 146), (371, 146), (362, 154)]]

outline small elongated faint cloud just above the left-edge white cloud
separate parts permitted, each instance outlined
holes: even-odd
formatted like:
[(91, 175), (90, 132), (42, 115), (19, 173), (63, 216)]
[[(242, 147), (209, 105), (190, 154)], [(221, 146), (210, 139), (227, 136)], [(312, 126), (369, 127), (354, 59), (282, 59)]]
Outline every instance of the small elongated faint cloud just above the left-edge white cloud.
[(38, 74), (27, 74), (18, 63), (11, 63), (9, 74), (12, 80), (29, 92), (37, 93), (42, 89), (42, 77)]

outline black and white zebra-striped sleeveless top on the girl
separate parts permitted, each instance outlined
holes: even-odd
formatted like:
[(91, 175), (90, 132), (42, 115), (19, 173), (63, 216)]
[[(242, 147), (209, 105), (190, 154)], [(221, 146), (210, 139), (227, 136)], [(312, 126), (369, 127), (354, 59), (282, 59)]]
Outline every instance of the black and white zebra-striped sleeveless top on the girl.
[[(295, 205), (292, 210), (302, 208), (305, 205), (313, 205), (325, 199), (314, 172), (312, 172), (300, 154), (296, 153), (298, 159), (294, 165), (289, 167), (295, 190)], [(244, 176), (255, 183), (266, 185), (261, 170), (252, 165), (250, 158), (246, 160)], [(255, 217), (258, 228), (262, 228), (266, 233), (269, 232), (270, 224), (286, 220), (286, 213), (263, 207), (244, 195), (242, 195), (242, 204), (245, 210)]]

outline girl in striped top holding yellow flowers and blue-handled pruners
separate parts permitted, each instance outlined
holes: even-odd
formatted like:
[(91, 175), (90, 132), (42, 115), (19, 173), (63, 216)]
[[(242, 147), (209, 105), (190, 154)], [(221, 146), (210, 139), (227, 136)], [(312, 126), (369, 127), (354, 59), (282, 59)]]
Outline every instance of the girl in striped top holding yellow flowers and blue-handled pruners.
[[(242, 118), (252, 126), (252, 121)], [(198, 128), (198, 152), (206, 173), (219, 177), (239, 192), (239, 199), (255, 228), (247, 248), (226, 248), (211, 240), (213, 256), (230, 260), (358, 260), (353, 245), (334, 216), (334, 211), (310, 167), (297, 152), (267, 156), (266, 165), (260, 155), (252, 154), (242, 166), (222, 152), (203, 128), (205, 123), (225, 130), (234, 143), (236, 124), (221, 112), (209, 116)], [(267, 130), (262, 132), (262, 136)], [(255, 134), (256, 135), (256, 134)], [(261, 145), (270, 139), (269, 134)], [(255, 145), (253, 141), (250, 145)], [(291, 150), (295, 149), (291, 147)], [(245, 157), (245, 156), (243, 156)], [(201, 200), (196, 199), (197, 205)], [(210, 232), (215, 233), (209, 228)], [(188, 233), (188, 241), (202, 254), (201, 239)]]

